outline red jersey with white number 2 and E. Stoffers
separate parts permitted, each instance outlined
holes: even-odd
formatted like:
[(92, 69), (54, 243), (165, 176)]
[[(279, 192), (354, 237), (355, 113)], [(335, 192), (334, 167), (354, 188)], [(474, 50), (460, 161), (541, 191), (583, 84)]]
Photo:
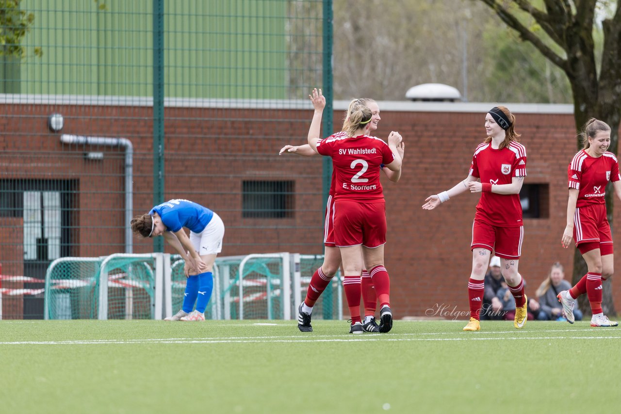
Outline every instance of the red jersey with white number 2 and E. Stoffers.
[(317, 152), (331, 156), (336, 170), (335, 200), (370, 202), (384, 199), (379, 167), (394, 155), (388, 144), (368, 135), (348, 138), (343, 132), (317, 142)]

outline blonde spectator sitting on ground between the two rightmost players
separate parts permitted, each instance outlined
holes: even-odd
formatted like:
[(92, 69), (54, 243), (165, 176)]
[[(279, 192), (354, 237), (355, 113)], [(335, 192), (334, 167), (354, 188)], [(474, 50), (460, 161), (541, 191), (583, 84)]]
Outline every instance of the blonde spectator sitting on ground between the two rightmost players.
[[(537, 289), (537, 296), (539, 297), (541, 307), (541, 312), (539, 312), (537, 317), (538, 320), (566, 320), (564, 318), (563, 305), (556, 297), (561, 290), (571, 289), (571, 284), (564, 277), (563, 265), (558, 262), (553, 264), (550, 274)], [(574, 308), (574, 317), (576, 320), (582, 320), (582, 312), (578, 308)]]

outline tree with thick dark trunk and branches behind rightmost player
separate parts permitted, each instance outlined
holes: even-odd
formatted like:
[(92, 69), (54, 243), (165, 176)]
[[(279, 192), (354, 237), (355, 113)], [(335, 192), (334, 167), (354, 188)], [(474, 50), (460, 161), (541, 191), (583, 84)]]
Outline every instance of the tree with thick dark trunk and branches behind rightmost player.
[[(484, 2), (522, 40), (564, 71), (571, 85), (576, 131), (591, 117), (603, 120), (612, 129), (609, 151), (616, 154), (621, 122), (621, 0), (474, 1)], [(596, 25), (603, 32), (601, 51), (594, 38)], [(606, 192), (611, 226), (612, 195)], [(576, 250), (573, 282), (585, 273), (586, 264)], [(605, 313), (616, 313), (610, 282), (604, 284), (602, 307)]]

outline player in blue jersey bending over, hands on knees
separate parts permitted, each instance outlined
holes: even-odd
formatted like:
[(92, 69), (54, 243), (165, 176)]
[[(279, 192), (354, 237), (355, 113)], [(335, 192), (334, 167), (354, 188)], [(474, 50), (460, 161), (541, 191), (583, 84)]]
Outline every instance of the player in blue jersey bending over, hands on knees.
[[(183, 308), (165, 320), (205, 320), (205, 308), (214, 287), (211, 270), (215, 256), (222, 251), (224, 237), (224, 223), (219, 215), (195, 202), (175, 199), (132, 218), (130, 224), (140, 236), (164, 236), (185, 261), (183, 271), (188, 280)], [(189, 237), (184, 227), (190, 230)]]

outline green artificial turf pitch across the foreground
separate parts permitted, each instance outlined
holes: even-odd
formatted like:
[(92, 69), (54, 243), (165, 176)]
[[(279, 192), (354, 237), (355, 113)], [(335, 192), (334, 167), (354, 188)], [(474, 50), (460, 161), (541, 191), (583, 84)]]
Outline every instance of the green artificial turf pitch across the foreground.
[(615, 412), (621, 329), (588, 322), (0, 321), (6, 413)]

